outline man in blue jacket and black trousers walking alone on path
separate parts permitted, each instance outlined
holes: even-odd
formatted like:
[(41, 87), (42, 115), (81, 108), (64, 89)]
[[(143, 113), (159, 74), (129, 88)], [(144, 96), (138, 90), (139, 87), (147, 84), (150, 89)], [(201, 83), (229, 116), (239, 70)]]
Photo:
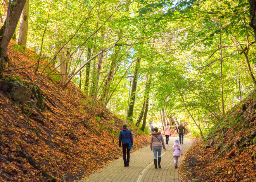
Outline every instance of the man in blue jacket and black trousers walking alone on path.
[[(123, 148), (123, 159), (125, 163), (125, 167), (129, 166), (130, 162), (130, 150), (128, 149), (129, 143), (133, 146), (132, 134), (131, 130), (127, 129), (127, 125), (123, 125), (123, 129), (119, 133), (119, 147), (121, 148), (121, 141), (122, 141), (122, 148)], [(126, 159), (127, 153), (127, 159)]]

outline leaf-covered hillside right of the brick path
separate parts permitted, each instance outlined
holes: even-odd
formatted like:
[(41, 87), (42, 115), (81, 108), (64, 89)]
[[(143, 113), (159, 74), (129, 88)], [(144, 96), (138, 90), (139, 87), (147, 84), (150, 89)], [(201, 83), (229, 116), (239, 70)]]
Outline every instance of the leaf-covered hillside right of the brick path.
[[(256, 180), (256, 95), (235, 105), (208, 133), (195, 139), (183, 161), (183, 181), (254, 182)], [(189, 159), (199, 163), (189, 166)]]

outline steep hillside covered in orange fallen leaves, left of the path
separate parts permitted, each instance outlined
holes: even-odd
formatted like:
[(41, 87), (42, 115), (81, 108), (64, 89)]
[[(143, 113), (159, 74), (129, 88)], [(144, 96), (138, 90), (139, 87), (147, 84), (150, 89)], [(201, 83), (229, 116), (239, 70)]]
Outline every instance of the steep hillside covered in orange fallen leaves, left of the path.
[[(92, 100), (73, 83), (64, 89), (57, 72), (28, 94), (22, 111), (24, 92), (17, 93), (16, 86), (35, 83), (47, 62), (40, 61), (35, 75), (36, 54), (15, 45), (10, 42), (5, 70), (11, 71), (4, 72), (0, 91), (0, 181), (73, 181), (119, 158), (118, 134), (125, 121), (106, 109), (99, 114), (102, 105), (97, 102), (87, 117)], [(148, 136), (131, 124), (128, 128), (134, 150), (148, 144)]]

